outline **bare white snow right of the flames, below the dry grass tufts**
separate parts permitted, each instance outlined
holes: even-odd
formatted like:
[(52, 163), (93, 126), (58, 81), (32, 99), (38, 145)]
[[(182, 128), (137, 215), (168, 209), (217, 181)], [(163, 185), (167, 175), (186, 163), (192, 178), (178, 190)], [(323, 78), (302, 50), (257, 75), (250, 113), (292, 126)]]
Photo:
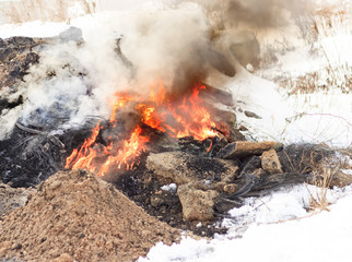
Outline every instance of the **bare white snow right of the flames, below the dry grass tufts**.
[[(251, 90), (248, 86), (255, 86)], [(249, 129), (248, 139), (291, 143), (325, 143), (335, 147), (352, 143), (352, 95), (340, 90), (290, 95), (272, 83), (253, 76), (236, 78), (230, 86), (244, 110), (261, 119), (237, 114), (238, 124)], [(255, 94), (255, 95), (251, 95)], [(248, 98), (247, 98), (248, 97)]]

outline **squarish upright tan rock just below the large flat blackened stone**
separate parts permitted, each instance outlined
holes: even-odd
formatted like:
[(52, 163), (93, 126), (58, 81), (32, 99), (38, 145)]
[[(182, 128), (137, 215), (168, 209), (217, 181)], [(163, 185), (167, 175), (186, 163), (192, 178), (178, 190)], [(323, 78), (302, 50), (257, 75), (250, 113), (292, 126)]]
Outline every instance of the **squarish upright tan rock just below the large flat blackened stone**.
[(212, 221), (214, 218), (214, 204), (219, 193), (214, 190), (202, 191), (187, 183), (177, 189), (183, 205), (184, 218), (187, 221)]

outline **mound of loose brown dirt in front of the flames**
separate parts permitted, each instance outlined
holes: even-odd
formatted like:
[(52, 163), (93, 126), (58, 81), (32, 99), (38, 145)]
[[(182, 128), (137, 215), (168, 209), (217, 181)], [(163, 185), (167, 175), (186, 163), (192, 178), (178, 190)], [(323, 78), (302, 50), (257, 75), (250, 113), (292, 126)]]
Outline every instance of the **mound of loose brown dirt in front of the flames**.
[(179, 231), (84, 171), (58, 172), (0, 223), (0, 258), (133, 261)]

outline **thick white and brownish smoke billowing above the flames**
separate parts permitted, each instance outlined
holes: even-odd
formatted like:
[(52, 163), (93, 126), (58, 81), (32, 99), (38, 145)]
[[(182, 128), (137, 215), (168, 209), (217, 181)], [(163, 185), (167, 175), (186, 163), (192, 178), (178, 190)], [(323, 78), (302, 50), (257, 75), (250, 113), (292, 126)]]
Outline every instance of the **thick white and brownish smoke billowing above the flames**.
[(159, 80), (169, 92), (188, 88), (207, 76), (210, 63), (226, 64), (228, 45), (212, 39), (212, 13), (232, 26), (277, 21), (284, 10), (296, 9), (285, 0), (258, 2), (103, 0), (101, 13), (71, 21), (83, 29), (82, 45), (59, 43), (40, 52), (19, 92), (24, 97), (20, 121), (60, 129), (92, 115), (108, 118), (117, 92), (144, 94)]

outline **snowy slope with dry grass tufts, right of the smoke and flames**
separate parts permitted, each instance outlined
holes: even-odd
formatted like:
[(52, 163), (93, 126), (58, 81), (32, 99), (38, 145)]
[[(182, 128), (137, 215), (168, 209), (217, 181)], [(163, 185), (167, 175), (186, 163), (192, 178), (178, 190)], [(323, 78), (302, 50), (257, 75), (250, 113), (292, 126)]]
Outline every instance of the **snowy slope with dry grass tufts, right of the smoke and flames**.
[[(218, 82), (237, 100), (238, 126), (248, 128), (244, 133), (247, 139), (278, 140), (284, 144), (325, 143), (332, 147), (352, 144), (352, 94), (348, 87), (352, 72), (352, 17), (333, 16), (332, 27), (326, 25), (326, 19), (316, 21), (319, 36), (314, 44), (304, 39), (294, 25), (284, 32), (259, 32), (258, 39), (265, 43), (261, 49), (274, 50), (278, 61), (253, 73), (237, 63), (234, 79)], [(290, 86), (290, 82), (285, 88), (274, 83), (278, 78), (298, 80), (308, 73), (315, 74), (310, 80), (316, 85), (313, 93), (294, 92), (296, 85)], [(248, 118), (244, 110), (261, 119)]]

